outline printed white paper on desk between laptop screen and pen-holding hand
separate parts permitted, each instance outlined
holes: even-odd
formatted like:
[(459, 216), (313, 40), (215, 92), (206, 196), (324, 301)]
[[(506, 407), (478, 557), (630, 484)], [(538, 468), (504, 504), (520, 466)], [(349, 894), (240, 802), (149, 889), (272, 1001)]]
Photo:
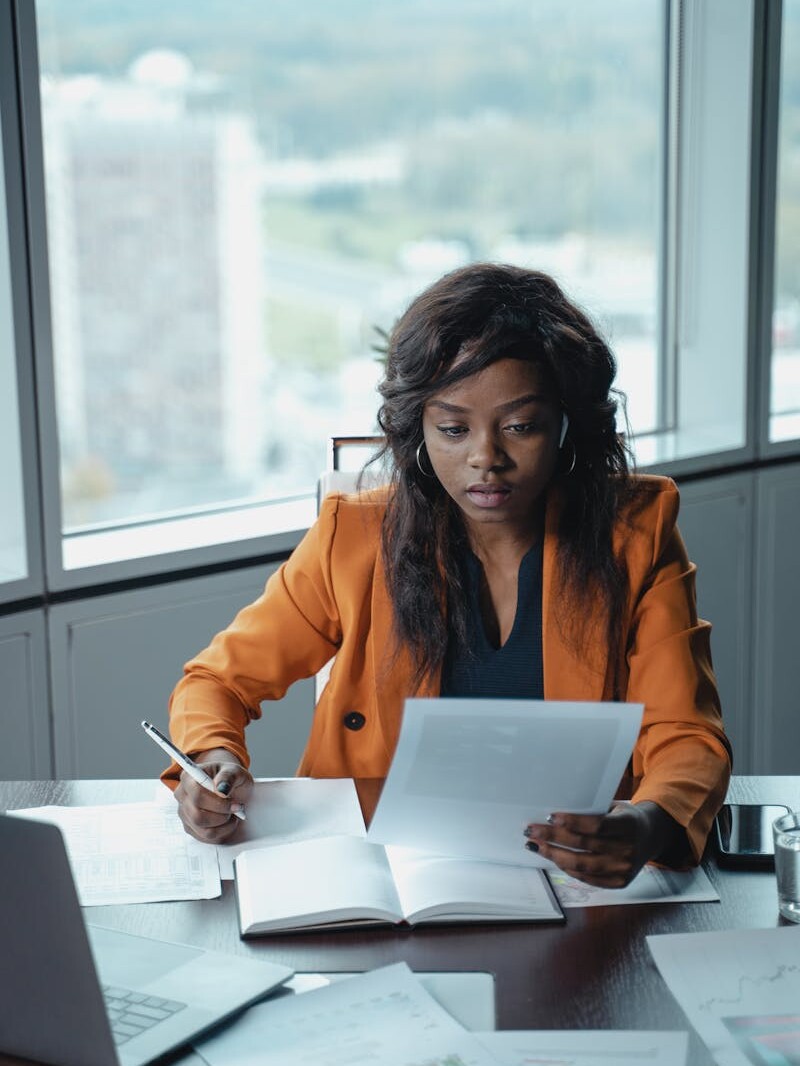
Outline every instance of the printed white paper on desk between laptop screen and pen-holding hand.
[(190, 837), (161, 804), (30, 807), (9, 813), (59, 826), (84, 907), (211, 900), (222, 892), (213, 849)]

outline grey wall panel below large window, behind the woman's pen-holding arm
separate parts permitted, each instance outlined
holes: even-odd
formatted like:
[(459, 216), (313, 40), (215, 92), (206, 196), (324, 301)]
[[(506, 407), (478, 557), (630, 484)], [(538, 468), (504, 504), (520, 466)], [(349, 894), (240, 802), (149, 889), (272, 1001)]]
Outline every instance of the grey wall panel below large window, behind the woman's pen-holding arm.
[[(165, 727), (183, 663), (255, 599), (254, 567), (62, 603), (50, 612), (57, 777), (146, 777), (165, 765), (141, 729)], [(253, 723), (253, 772), (291, 775), (310, 728), (313, 681)]]

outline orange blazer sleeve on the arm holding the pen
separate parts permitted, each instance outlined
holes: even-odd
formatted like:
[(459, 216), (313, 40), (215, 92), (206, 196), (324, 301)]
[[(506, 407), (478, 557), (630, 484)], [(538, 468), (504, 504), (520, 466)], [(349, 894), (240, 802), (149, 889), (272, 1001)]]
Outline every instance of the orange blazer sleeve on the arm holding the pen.
[[(244, 727), (260, 702), (279, 699), (336, 653), (340, 620), (331, 579), (339, 498), (329, 497), (317, 522), (267, 582), (261, 596), (183, 667), (170, 698), (170, 732), (194, 755), (224, 747), (250, 764)], [(177, 785), (173, 763), (161, 779)]]

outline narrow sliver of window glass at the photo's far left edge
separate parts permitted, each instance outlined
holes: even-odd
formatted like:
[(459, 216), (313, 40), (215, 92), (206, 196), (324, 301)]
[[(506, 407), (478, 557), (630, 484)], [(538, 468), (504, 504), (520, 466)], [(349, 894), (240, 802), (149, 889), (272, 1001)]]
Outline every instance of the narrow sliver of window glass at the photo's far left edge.
[(29, 572), (15, 351), (5, 178), (0, 167), (0, 584)]

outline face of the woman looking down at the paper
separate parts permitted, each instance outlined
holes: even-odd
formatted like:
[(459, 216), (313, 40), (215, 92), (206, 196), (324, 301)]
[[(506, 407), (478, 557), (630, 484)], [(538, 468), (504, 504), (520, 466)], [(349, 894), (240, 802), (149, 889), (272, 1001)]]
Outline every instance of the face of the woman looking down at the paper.
[(444, 388), (422, 413), (433, 471), (476, 532), (486, 523), (522, 535), (534, 528), (560, 432), (551, 387), (522, 359), (500, 359)]

